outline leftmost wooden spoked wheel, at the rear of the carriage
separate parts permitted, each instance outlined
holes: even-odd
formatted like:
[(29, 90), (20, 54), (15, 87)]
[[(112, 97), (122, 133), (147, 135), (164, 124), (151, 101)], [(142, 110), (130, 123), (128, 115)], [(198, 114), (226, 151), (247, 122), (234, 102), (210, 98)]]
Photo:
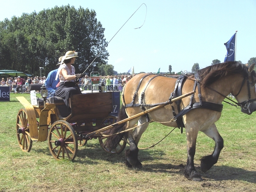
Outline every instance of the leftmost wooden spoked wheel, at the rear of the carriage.
[(21, 150), (29, 152), (32, 148), (33, 141), (30, 137), (28, 114), (25, 109), (20, 109), (18, 112), (16, 134)]

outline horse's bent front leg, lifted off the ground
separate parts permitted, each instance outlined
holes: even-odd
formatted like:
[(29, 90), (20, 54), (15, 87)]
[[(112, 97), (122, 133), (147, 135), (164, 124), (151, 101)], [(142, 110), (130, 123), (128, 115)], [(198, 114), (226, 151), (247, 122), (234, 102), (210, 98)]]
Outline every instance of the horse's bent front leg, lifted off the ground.
[(218, 133), (215, 124), (212, 124), (206, 131), (203, 132), (215, 141), (213, 153), (201, 158), (201, 170), (202, 172), (207, 172), (215, 163), (217, 163), (221, 149), (224, 147), (224, 142), (221, 135)]

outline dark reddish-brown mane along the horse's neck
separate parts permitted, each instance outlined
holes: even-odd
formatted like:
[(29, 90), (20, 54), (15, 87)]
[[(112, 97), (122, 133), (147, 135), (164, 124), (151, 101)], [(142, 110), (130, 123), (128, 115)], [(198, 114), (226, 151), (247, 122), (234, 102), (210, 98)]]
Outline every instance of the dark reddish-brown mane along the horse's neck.
[(209, 86), (218, 79), (228, 75), (242, 74), (247, 75), (248, 67), (237, 61), (227, 61), (225, 63), (214, 64), (199, 70), (199, 76), (203, 86)]

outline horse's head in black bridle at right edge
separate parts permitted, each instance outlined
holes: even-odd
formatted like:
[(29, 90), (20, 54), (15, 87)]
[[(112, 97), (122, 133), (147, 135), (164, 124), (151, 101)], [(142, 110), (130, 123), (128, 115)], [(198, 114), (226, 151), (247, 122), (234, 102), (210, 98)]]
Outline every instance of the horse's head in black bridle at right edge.
[(255, 64), (249, 67), (247, 75), (244, 76), (240, 93), (236, 95), (236, 100), (241, 107), (241, 112), (248, 115), (256, 111), (256, 73), (253, 70), (254, 67)]

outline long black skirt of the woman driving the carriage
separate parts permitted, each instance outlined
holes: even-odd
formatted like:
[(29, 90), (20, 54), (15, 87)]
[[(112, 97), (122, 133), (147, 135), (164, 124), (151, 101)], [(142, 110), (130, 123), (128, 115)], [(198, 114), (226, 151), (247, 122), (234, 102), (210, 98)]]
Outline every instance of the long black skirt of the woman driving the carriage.
[(68, 108), (70, 108), (68, 99), (71, 95), (82, 94), (80, 88), (75, 82), (61, 82), (55, 92), (57, 97), (61, 97)]

